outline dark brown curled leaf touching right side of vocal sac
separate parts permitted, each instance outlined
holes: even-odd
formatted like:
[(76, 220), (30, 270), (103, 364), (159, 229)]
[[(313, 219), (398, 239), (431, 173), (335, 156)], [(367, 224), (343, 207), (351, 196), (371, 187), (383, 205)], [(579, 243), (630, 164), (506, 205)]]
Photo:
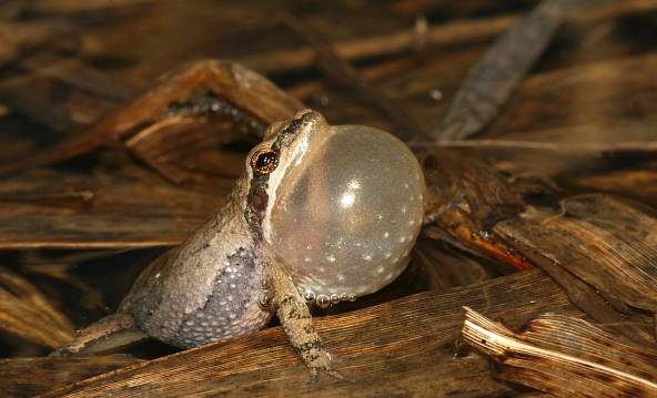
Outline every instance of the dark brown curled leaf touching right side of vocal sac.
[(533, 266), (491, 229), (496, 222), (518, 214), (525, 206), (523, 195), (492, 163), (466, 152), (434, 150), (424, 157), (424, 173), (425, 236), (446, 238), (466, 251), (501, 259), (518, 269)]

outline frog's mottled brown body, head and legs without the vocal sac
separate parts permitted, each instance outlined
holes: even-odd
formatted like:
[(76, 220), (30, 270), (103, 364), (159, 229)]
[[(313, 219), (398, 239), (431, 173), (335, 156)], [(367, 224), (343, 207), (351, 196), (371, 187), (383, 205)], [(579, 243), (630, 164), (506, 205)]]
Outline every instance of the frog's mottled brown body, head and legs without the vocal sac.
[[(176, 347), (193, 347), (252, 334), (275, 312), (311, 375), (325, 371), (340, 377), (305, 300), (282, 271), (283, 259), (273, 256), (263, 239), (267, 192), (276, 187), (283, 172), (254, 169), (263, 151), (285, 162), (295, 139), (314, 133), (320, 123), (325, 121), (319, 113), (302, 111), (272, 125), (249, 156), (245, 173), (225, 206), (182, 245), (146, 267), (117, 314), (81, 330), (54, 354), (104, 350), (111, 346), (109, 336), (119, 334), (127, 337), (118, 345), (150, 336)], [(266, 303), (266, 296), (273, 300)]]

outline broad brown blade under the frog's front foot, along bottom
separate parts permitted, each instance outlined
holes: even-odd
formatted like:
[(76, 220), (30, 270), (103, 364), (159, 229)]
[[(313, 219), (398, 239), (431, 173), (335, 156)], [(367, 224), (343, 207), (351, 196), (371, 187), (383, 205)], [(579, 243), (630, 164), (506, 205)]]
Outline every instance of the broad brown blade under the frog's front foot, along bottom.
[[(498, 396), (479, 357), (455, 358), (462, 305), (519, 325), (546, 310), (579, 314), (539, 272), (516, 273), (437, 294), (426, 292), (353, 313), (315, 319), (337, 368), (354, 382), (307, 371), (280, 327), (190, 349), (52, 391), (47, 397), (191, 396)], [(410, 327), (410, 325), (413, 325)], [(457, 392), (458, 391), (458, 392)]]

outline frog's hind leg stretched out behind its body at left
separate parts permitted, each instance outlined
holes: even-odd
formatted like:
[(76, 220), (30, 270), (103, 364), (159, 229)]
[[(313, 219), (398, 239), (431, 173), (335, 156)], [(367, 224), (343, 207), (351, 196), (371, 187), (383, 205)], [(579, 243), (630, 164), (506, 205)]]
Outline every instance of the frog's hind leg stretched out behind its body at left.
[(131, 315), (117, 313), (77, 331), (69, 344), (54, 350), (51, 356), (108, 351), (146, 337), (137, 328)]

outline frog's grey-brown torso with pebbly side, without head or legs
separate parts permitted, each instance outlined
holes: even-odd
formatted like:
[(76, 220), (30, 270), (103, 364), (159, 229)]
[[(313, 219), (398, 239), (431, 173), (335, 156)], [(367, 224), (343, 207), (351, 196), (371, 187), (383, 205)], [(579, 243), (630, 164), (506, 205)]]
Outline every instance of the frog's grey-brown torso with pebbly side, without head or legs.
[(216, 215), (140, 275), (120, 312), (179, 347), (246, 335), (271, 314), (259, 302), (264, 266), (239, 220)]

